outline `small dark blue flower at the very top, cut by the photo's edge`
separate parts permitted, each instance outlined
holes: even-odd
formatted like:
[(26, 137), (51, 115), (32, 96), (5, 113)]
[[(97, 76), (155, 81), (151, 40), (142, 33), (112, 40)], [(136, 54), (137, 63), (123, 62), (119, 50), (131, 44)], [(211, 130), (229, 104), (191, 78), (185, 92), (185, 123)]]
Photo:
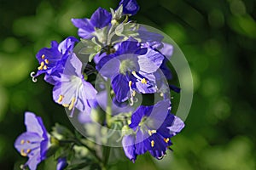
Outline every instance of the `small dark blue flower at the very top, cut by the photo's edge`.
[(119, 6), (123, 5), (123, 14), (137, 14), (137, 11), (140, 7), (137, 4), (136, 0), (121, 0)]

